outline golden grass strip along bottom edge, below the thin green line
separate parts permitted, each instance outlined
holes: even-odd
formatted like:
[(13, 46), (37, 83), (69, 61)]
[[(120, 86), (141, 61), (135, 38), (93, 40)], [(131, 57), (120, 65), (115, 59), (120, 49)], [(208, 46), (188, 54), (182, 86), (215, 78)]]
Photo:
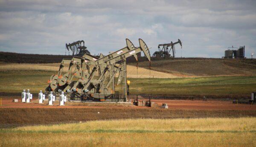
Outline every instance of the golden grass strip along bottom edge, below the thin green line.
[[(0, 134), (1, 135), (1, 134)], [(253, 147), (254, 133), (6, 133), (2, 146)]]

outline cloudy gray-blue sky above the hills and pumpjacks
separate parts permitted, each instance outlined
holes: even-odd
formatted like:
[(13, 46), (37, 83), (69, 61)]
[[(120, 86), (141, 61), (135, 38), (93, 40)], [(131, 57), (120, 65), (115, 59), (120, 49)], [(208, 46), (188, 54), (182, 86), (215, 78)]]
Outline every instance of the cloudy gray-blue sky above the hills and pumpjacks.
[[(125, 38), (151, 54), (180, 39), (176, 56), (224, 56), (227, 47), (256, 52), (255, 0), (0, 0), (0, 51), (65, 54), (84, 40), (92, 54), (125, 47)], [(68, 52), (67, 52), (68, 54)]]

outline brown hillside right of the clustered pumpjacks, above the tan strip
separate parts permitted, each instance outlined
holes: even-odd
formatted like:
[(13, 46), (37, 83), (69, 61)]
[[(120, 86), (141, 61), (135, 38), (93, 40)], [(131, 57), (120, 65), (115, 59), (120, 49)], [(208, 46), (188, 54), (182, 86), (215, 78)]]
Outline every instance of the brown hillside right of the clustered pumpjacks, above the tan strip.
[[(149, 68), (147, 61), (139, 62), (139, 67)], [(130, 62), (129, 65), (136, 65)], [(256, 60), (253, 59), (153, 59), (151, 70), (171, 73), (175, 76), (254, 76)]]

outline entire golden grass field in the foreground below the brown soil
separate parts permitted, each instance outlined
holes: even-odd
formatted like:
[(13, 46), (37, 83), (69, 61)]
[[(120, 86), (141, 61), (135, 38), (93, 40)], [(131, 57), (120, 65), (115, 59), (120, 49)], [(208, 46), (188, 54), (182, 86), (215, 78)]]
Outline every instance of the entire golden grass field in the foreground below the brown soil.
[(0, 130), (1, 146), (255, 146), (256, 118), (126, 119)]

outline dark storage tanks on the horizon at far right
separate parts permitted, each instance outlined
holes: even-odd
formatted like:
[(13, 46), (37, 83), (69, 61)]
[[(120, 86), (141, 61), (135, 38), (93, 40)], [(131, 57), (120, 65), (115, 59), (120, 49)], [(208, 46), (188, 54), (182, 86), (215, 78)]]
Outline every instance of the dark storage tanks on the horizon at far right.
[(228, 59), (244, 58), (244, 50), (245, 50), (245, 46), (240, 46), (239, 48), (234, 48), (232, 46), (230, 48), (227, 48), (227, 50), (225, 51), (225, 57), (224, 58), (228, 58)]

